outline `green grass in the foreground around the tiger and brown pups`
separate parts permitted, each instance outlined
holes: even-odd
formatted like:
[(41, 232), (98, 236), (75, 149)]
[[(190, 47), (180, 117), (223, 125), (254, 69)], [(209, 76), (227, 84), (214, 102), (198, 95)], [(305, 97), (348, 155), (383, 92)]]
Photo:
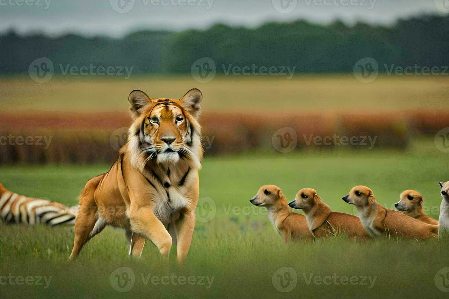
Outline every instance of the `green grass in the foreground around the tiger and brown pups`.
[[(423, 194), (425, 205), (434, 211), (430, 216), (438, 218), (438, 182), (447, 180), (448, 164), (447, 154), (436, 150), (433, 140), (412, 143), (407, 152), (206, 157), (200, 172), (200, 197), (211, 198), (215, 208), (212, 206), (210, 221), (197, 221), (184, 264), (176, 263), (175, 247), (171, 259), (166, 261), (148, 243), (140, 260), (131, 259), (123, 231), (110, 228), (84, 247), (77, 262), (68, 264), (73, 228), (3, 225), (0, 276), (45, 276), (47, 281), (52, 276), (52, 280), (48, 288), (44, 288), (44, 279), (43, 285), (2, 285), (0, 296), (297, 298), (332, 294), (445, 298), (447, 293), (437, 287), (441, 282), (437, 272), (449, 266), (448, 243), (383, 238), (356, 243), (335, 237), (286, 246), (263, 208), (251, 206), (248, 200), (264, 184), (280, 186), (288, 199), (293, 199), (299, 189), (312, 187), (334, 211), (355, 213), (341, 199), (354, 185), (371, 187), (379, 203), (387, 207), (399, 200), (401, 191), (412, 188)], [(0, 182), (21, 194), (71, 205), (77, 203), (88, 178), (107, 171), (109, 166), (1, 166)], [(120, 267), (131, 268), (135, 275), (134, 286), (125, 293), (114, 289), (114, 271)], [(285, 274), (283, 267), (293, 270)], [(278, 274), (291, 278), (290, 284), (282, 285), (286, 288), (280, 285)], [(352, 278), (353, 283), (341, 280), (345, 276), (356, 277), (357, 282), (356, 278)], [(179, 277), (181, 280), (177, 280)], [(184, 282), (182, 277), (191, 279), (192, 285), (180, 285)], [(289, 288), (290, 292), (279, 291)]]

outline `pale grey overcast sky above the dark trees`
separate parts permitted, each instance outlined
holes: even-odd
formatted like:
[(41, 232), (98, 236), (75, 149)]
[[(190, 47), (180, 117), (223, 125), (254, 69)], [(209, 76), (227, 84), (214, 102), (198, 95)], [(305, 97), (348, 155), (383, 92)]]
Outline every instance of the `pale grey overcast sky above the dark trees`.
[(0, 32), (120, 37), (138, 29), (202, 29), (215, 23), (255, 27), (297, 19), (391, 24), (419, 13), (444, 14), (437, 9), (443, 1), (447, 0), (0, 0)]

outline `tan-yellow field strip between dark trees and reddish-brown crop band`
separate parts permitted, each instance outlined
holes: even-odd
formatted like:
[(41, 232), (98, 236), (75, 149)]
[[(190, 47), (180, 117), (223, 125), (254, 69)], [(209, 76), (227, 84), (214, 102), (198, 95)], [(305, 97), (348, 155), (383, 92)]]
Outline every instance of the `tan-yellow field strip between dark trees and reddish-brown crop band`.
[[(175, 85), (175, 86), (174, 86)], [(2, 112), (128, 111), (134, 89), (150, 97), (180, 98), (199, 88), (206, 113), (334, 110), (374, 112), (406, 108), (447, 108), (449, 87), (444, 76), (387, 76), (361, 83), (352, 74), (284, 77), (217, 76), (198, 83), (190, 75), (133, 75), (123, 78), (54, 76), (36, 83), (27, 75), (0, 78)]]

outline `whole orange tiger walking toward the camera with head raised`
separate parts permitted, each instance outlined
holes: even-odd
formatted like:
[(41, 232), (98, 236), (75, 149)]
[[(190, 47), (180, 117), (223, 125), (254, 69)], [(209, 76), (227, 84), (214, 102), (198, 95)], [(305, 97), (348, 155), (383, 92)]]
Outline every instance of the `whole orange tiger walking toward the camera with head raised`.
[(179, 100), (150, 98), (140, 90), (129, 94), (128, 138), (110, 170), (81, 191), (69, 260), (106, 225), (125, 230), (129, 255), (140, 258), (150, 240), (163, 257), (176, 244), (177, 260), (185, 259), (199, 197), (201, 100), (196, 88)]

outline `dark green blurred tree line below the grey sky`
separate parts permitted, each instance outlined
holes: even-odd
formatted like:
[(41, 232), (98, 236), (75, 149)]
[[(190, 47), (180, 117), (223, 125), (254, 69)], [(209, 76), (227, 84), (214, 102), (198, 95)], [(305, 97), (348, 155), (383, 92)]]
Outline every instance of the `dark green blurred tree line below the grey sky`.
[(133, 74), (186, 73), (202, 57), (210, 57), (217, 72), (229, 65), (256, 65), (295, 67), (295, 73), (339, 73), (351, 72), (359, 59), (373, 57), (382, 72), (383, 65), (449, 65), (448, 36), (449, 17), (436, 15), (398, 20), (392, 26), (296, 21), (250, 29), (219, 24), (207, 30), (142, 30), (121, 39), (9, 31), (0, 36), (0, 73), (25, 73), (39, 57), (50, 58), (55, 68), (133, 66)]

